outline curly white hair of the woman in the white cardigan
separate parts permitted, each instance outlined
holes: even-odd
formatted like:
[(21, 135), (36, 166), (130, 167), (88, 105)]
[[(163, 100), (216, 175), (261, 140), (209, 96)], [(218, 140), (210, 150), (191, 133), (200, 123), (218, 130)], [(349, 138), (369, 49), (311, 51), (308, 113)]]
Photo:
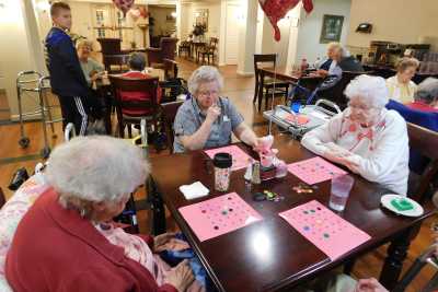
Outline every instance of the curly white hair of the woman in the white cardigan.
[(345, 89), (345, 95), (361, 98), (370, 107), (383, 108), (388, 104), (387, 82), (381, 77), (359, 75)]

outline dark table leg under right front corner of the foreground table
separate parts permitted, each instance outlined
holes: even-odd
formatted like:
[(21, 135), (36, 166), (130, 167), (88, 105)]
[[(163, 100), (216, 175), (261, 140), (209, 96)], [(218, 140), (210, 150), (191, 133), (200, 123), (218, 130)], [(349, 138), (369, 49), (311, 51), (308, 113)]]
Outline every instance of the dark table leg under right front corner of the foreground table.
[(403, 261), (406, 258), (411, 241), (418, 234), (419, 227), (420, 224), (401, 233), (394, 241), (392, 241), (388, 248), (388, 256), (384, 260), (382, 271), (380, 272), (379, 281), (390, 291), (399, 281), (403, 268)]

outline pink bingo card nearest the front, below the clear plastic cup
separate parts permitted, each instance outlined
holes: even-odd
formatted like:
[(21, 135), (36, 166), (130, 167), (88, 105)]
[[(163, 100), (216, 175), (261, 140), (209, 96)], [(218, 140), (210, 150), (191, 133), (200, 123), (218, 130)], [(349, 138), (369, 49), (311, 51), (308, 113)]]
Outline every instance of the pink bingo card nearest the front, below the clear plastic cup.
[(371, 238), (316, 200), (300, 205), (279, 215), (332, 260)]

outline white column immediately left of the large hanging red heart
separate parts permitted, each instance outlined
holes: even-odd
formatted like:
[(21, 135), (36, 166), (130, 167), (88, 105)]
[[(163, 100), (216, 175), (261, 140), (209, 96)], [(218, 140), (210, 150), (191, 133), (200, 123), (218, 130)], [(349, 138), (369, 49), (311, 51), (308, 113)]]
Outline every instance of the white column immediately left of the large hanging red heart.
[(239, 25), (238, 74), (254, 74), (254, 52), (257, 33), (258, 1), (242, 0), (242, 21)]

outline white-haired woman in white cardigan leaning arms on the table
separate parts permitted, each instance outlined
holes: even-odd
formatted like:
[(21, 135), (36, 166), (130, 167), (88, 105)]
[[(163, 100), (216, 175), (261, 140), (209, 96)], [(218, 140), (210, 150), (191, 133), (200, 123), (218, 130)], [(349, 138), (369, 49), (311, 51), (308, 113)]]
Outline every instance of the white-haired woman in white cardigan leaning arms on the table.
[(384, 107), (388, 103), (384, 79), (359, 75), (348, 84), (345, 95), (349, 98), (348, 107), (304, 135), (301, 143), (370, 182), (406, 195), (406, 122), (395, 110)]

